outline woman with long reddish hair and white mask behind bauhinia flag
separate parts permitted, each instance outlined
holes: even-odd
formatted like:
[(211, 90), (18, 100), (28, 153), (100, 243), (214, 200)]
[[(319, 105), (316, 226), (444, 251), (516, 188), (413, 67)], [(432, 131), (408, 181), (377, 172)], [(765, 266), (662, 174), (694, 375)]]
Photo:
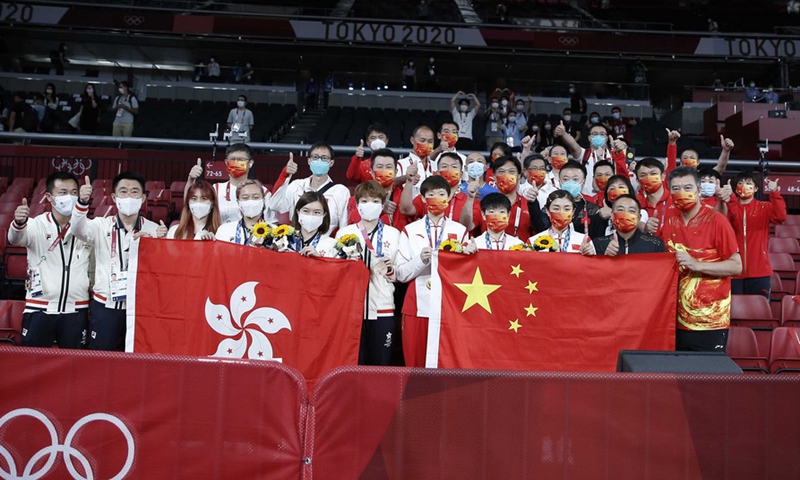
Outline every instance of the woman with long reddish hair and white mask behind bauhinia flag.
[(167, 238), (214, 240), (220, 223), (214, 189), (205, 180), (198, 180), (186, 192), (180, 222), (170, 227)]

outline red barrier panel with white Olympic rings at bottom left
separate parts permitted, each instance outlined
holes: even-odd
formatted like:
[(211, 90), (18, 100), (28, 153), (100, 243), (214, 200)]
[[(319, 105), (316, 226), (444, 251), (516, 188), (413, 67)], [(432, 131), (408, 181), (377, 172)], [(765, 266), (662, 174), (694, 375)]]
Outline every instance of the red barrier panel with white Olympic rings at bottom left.
[(305, 382), (276, 362), (0, 347), (0, 365), (0, 478), (302, 474)]

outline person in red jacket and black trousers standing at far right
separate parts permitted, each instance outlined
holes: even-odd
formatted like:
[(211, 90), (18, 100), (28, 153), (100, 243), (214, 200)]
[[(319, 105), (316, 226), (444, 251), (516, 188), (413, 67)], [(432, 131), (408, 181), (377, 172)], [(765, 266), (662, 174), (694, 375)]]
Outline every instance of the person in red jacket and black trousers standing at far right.
[(778, 191), (778, 180), (767, 182), (769, 201), (756, 200), (761, 177), (741, 172), (734, 181), (736, 195), (728, 202), (728, 220), (736, 233), (742, 254), (742, 274), (733, 278), (731, 292), (769, 298), (772, 265), (769, 263), (769, 224), (786, 220), (786, 202)]

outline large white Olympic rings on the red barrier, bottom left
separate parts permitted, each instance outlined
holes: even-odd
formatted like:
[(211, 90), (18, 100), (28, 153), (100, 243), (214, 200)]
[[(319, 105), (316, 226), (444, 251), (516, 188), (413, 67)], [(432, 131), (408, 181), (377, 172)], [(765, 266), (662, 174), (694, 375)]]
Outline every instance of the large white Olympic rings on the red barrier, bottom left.
[[(9, 420), (17, 417), (33, 417), (42, 422), (47, 429), (47, 433), (50, 435), (50, 445), (36, 452), (36, 454), (34, 454), (33, 457), (28, 460), (28, 463), (25, 465), (25, 469), (20, 475), (17, 471), (17, 465), (16, 462), (14, 462), (14, 457), (11, 456), (11, 452), (9, 452), (5, 446), (0, 444), (0, 457), (5, 459), (9, 469), (9, 471), (5, 471), (2, 469), (2, 467), (0, 467), (0, 478), (3, 480), (37, 480), (42, 478), (50, 473), (50, 469), (55, 464), (59, 453), (64, 454), (64, 464), (67, 466), (67, 470), (69, 471), (70, 475), (72, 475), (73, 479), (92, 480), (94, 478), (94, 474), (92, 473), (92, 466), (89, 463), (89, 459), (87, 459), (80, 450), (73, 447), (72, 442), (75, 439), (75, 435), (78, 434), (78, 430), (80, 430), (84, 425), (90, 422), (98, 421), (105, 421), (117, 427), (119, 431), (122, 432), (122, 435), (125, 437), (125, 441), (128, 444), (128, 456), (125, 458), (125, 464), (116, 475), (111, 477), (111, 480), (125, 478), (133, 466), (133, 457), (136, 449), (133, 441), (133, 435), (131, 434), (130, 430), (128, 430), (128, 427), (122, 423), (122, 420), (114, 415), (109, 415), (107, 413), (92, 413), (86, 415), (75, 422), (75, 425), (69, 429), (67, 436), (64, 438), (63, 444), (59, 443), (58, 432), (55, 425), (53, 425), (53, 422), (51, 422), (50, 419), (47, 418), (47, 416), (45, 416), (43, 413), (32, 408), (18, 408), (6, 413), (0, 418), (0, 428), (2, 428), (2, 426), (5, 425)], [(41, 460), (44, 456), (47, 456), (47, 461), (45, 464), (42, 465), (39, 470), (35, 472), (32, 471), (39, 460)], [(73, 457), (80, 462), (81, 466), (83, 467), (83, 471), (86, 472), (85, 477), (78, 473), (78, 471), (75, 469), (75, 465), (72, 460)]]

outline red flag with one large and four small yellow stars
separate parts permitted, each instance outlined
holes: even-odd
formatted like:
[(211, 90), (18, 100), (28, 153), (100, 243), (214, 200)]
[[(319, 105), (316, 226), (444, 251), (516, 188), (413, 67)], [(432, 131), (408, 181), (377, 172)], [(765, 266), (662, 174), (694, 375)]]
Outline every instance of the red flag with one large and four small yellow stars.
[(438, 252), (432, 271), (429, 368), (613, 372), (619, 350), (675, 349), (672, 254)]

